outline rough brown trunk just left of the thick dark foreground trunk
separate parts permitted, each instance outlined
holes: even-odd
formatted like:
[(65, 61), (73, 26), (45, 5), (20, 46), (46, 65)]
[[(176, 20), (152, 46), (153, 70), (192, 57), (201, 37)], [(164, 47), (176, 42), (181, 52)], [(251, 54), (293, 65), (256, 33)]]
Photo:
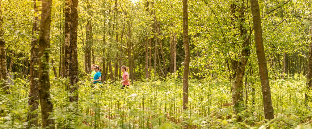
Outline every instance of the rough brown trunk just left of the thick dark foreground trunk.
[[(1, 6), (1, 4), (0, 4)], [(34, 1), (34, 13), (38, 13), (38, 8), (36, 1)], [(36, 65), (39, 64), (39, 50), (38, 50), (38, 39), (36, 38), (36, 34), (39, 31), (39, 16), (34, 16), (33, 24), (32, 24), (32, 42), (30, 48), (30, 89), (28, 96), (28, 107), (29, 111), (27, 114), (28, 128), (37, 127), (38, 126), (38, 113), (34, 112), (38, 109), (39, 105), (39, 93), (38, 93), (38, 78), (39, 73)], [(12, 61), (11, 61), (12, 62)], [(12, 68), (10, 68), (12, 69)], [(36, 78), (36, 79), (35, 79)]]

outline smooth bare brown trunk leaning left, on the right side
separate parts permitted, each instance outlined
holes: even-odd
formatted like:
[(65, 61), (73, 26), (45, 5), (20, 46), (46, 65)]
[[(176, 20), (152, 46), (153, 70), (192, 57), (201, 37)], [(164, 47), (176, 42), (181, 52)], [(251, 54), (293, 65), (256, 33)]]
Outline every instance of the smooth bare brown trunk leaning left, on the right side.
[(271, 90), (270, 83), (268, 77), (268, 70), (266, 66), (266, 56), (264, 53), (263, 40), (262, 40), (262, 28), (261, 28), (261, 17), (260, 17), (260, 9), (258, 0), (250, 0), (251, 3), (251, 11), (253, 24), (255, 29), (255, 45), (256, 45), (256, 53), (258, 58), (259, 65), (259, 75), (261, 80), (261, 88), (262, 88), (262, 98), (263, 98), (263, 107), (264, 107), (264, 117), (266, 119), (274, 118), (274, 111), (271, 100)]

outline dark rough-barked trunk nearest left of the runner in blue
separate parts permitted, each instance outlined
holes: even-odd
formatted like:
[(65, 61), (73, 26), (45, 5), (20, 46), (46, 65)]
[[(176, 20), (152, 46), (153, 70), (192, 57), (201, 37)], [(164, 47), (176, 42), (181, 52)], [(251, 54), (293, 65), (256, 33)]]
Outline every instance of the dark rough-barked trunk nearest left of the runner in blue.
[[(78, 91), (76, 83), (78, 79), (78, 53), (77, 53), (77, 28), (78, 28), (78, 0), (71, 0), (71, 31), (70, 31), (70, 63), (69, 63), (69, 83), (71, 85), (70, 93)], [(90, 53), (89, 53), (90, 54)], [(70, 102), (78, 102), (78, 93), (69, 97)]]

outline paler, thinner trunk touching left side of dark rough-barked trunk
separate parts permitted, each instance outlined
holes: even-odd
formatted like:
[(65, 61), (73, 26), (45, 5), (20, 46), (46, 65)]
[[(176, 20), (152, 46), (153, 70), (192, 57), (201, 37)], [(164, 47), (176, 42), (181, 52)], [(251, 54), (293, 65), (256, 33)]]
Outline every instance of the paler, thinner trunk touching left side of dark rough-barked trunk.
[[(64, 43), (64, 77), (69, 77), (70, 39), (71, 39), (71, 0), (65, 0), (65, 43)], [(66, 85), (66, 90), (69, 86)]]

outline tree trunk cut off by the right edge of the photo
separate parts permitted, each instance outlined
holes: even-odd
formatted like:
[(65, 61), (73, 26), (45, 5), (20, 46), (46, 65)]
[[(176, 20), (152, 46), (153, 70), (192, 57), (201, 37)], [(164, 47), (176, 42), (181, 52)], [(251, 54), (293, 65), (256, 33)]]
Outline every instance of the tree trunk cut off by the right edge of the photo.
[[(312, 34), (312, 22), (311, 22), (311, 32)], [(311, 35), (311, 41), (309, 44), (309, 58), (308, 58), (308, 68), (307, 68), (307, 91), (308, 93), (311, 93), (312, 91), (312, 35)], [(305, 73), (305, 69), (303, 70), (303, 73)], [(305, 94), (305, 105), (308, 105), (308, 103), (311, 102), (311, 96), (309, 96), (307, 93)]]

